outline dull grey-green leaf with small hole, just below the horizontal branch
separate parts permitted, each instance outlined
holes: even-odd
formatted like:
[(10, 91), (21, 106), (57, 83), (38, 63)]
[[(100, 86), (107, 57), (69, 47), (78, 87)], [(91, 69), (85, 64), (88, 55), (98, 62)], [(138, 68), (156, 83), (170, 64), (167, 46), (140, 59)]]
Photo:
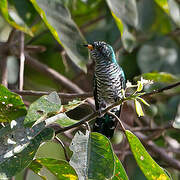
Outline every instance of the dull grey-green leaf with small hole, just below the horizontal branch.
[(56, 92), (52, 92), (48, 96), (42, 96), (30, 105), (24, 125), (32, 126), (35, 122), (45, 120), (49, 116), (58, 113), (60, 107), (61, 100)]

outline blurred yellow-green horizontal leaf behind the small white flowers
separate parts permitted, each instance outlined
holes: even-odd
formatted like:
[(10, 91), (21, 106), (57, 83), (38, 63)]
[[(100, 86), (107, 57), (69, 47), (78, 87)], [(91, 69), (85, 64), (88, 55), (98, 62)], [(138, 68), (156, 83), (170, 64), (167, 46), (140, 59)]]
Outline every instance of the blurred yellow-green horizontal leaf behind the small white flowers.
[(172, 83), (178, 80), (176, 76), (165, 72), (145, 73), (145, 74), (141, 74), (141, 76), (138, 76), (135, 79), (139, 79), (140, 77), (143, 77), (144, 79), (147, 80), (152, 80), (154, 82), (162, 82), (162, 83)]

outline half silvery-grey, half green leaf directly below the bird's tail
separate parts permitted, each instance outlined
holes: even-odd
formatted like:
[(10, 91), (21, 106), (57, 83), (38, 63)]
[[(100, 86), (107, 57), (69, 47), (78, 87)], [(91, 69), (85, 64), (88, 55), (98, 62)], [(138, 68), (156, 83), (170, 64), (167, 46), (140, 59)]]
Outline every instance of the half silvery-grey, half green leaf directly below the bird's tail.
[(104, 180), (114, 175), (114, 153), (105, 136), (79, 131), (75, 134), (70, 149), (73, 155), (69, 163), (76, 170), (79, 180)]

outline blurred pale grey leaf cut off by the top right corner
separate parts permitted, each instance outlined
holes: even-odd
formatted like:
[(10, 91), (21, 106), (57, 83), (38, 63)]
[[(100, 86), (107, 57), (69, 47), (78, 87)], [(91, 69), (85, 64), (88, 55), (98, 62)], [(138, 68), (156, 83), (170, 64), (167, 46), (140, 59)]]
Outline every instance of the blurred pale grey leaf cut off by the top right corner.
[(180, 27), (180, 5), (175, 0), (167, 0), (170, 10), (170, 16), (173, 21)]

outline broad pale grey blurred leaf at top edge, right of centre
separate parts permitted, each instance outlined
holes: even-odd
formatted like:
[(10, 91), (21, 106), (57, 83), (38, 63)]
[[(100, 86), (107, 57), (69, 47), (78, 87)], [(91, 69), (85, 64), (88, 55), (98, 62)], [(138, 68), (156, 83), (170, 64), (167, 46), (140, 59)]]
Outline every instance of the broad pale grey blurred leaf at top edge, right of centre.
[(138, 24), (138, 12), (136, 1), (131, 0), (106, 0), (113, 17), (116, 16), (120, 21), (136, 27)]

